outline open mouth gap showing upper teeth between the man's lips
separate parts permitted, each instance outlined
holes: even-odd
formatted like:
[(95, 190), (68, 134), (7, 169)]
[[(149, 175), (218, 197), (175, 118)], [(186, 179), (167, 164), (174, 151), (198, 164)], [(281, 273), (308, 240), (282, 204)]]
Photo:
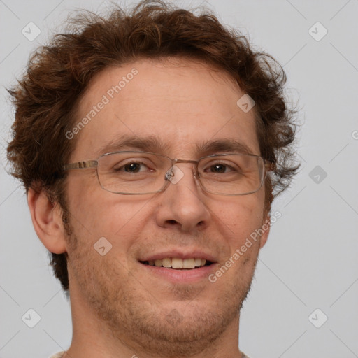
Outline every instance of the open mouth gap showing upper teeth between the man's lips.
[(163, 267), (180, 271), (196, 270), (198, 268), (214, 264), (207, 259), (201, 259), (199, 257), (193, 257), (190, 259), (181, 259), (180, 257), (166, 257), (164, 259), (153, 259), (139, 262), (147, 266)]

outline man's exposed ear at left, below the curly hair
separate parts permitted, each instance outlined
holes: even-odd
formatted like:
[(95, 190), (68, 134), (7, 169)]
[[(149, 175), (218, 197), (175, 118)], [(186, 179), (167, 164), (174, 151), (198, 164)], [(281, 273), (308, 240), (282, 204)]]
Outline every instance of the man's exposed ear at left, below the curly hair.
[(65, 231), (62, 223), (62, 210), (52, 203), (45, 192), (29, 189), (27, 193), (32, 224), (45, 248), (55, 254), (66, 252)]

